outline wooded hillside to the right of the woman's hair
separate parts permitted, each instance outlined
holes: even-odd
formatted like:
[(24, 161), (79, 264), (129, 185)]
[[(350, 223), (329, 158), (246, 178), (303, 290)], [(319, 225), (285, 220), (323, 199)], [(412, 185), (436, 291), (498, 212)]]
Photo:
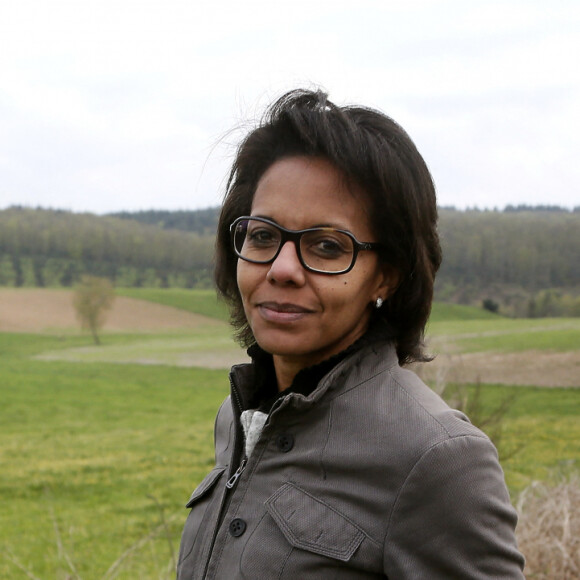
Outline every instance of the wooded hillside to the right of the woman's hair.
[(440, 299), (487, 298), (517, 316), (556, 314), (560, 299), (570, 310), (580, 293), (580, 213), (442, 210), (440, 221)]

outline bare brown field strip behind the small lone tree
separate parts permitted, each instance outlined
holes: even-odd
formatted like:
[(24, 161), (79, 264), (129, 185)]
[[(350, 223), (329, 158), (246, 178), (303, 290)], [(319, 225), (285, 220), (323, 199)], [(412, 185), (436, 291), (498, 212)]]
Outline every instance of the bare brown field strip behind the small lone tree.
[[(223, 324), (177, 308), (117, 296), (104, 330), (158, 331)], [(0, 288), (0, 331), (54, 332), (79, 329), (70, 290)]]

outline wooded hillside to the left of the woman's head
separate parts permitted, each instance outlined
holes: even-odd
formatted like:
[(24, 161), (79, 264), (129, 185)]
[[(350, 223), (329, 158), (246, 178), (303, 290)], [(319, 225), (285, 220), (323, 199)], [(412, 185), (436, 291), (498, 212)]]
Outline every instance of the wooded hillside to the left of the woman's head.
[(82, 275), (117, 286), (209, 285), (213, 235), (112, 216), (0, 211), (0, 285), (72, 286)]

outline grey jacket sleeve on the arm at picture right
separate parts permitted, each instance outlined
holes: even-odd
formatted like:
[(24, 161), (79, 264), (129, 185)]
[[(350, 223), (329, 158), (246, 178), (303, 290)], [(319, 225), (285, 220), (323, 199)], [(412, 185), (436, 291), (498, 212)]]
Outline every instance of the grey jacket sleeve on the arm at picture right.
[(385, 537), (385, 574), (522, 579), (516, 522), (493, 444), (483, 435), (450, 438), (428, 449), (401, 487)]

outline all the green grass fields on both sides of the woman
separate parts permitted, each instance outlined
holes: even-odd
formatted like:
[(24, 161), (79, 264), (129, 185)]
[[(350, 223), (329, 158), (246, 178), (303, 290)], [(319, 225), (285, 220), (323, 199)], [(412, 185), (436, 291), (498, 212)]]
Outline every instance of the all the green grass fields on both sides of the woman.
[[(138, 297), (226, 318), (211, 293), (164, 292)], [(580, 348), (577, 320), (480, 314), (437, 307), (430, 329), (466, 349), (485, 350), (490, 332), (494, 350)], [(184, 504), (212, 466), (227, 371), (169, 358), (118, 363), (128, 350), (147, 358), (163, 344), (174, 355), (183, 341), (219, 356), (232, 347), (227, 326), (217, 328), (202, 336), (106, 335), (103, 351), (116, 352), (117, 363), (86, 355), (86, 336), (0, 333), (0, 578), (173, 577)], [(36, 358), (47, 353), (65, 360)], [(580, 390), (484, 385), (481, 392), (488, 410), (516, 395), (503, 430), (506, 449), (517, 449), (503, 461), (514, 495), (534, 479), (578, 468)]]

